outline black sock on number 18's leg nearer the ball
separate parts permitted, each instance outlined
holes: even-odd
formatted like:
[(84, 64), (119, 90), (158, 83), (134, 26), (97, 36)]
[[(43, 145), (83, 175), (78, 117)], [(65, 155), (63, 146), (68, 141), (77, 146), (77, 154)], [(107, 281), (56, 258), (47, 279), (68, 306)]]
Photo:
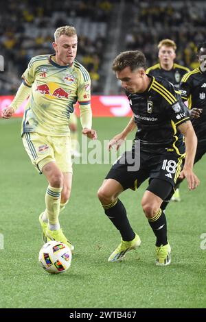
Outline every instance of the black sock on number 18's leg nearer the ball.
[(110, 205), (103, 206), (104, 212), (113, 225), (119, 230), (124, 241), (130, 241), (135, 238), (135, 232), (126, 216), (126, 209), (119, 199), (115, 199)]

